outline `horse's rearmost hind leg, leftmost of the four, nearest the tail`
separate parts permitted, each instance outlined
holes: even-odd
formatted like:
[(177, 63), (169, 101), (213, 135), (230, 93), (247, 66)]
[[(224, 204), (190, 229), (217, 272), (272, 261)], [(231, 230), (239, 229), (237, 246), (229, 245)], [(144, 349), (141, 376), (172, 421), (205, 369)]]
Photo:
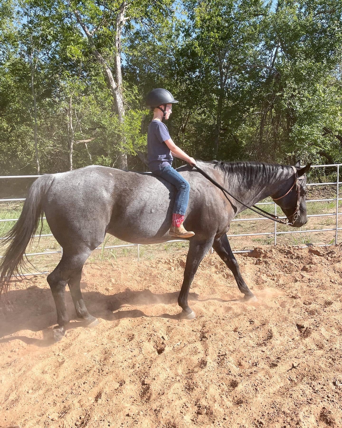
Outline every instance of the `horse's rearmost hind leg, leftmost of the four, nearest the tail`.
[(47, 282), (50, 285), (53, 299), (56, 304), (58, 326), (53, 329), (53, 337), (56, 342), (61, 340), (65, 335), (65, 327), (70, 321), (65, 302), (65, 286), (70, 280), (71, 283), (74, 284), (74, 277), (77, 273), (80, 273), (80, 271), (82, 272), (82, 266), (89, 254), (90, 252), (80, 254), (68, 254), (67, 252), (64, 252), (59, 264), (50, 273), (50, 275), (47, 276)]

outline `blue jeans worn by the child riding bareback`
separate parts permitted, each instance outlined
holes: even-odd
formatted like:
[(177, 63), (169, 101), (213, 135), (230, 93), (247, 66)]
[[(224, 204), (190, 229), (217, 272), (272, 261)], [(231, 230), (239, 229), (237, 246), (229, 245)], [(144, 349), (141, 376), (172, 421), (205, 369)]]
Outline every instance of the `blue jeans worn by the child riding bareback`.
[(176, 198), (174, 199), (174, 209), (172, 213), (185, 215), (189, 202), (190, 184), (172, 168), (171, 165), (162, 166), (160, 169), (153, 171), (154, 175), (164, 178), (165, 181), (173, 184), (177, 189)]

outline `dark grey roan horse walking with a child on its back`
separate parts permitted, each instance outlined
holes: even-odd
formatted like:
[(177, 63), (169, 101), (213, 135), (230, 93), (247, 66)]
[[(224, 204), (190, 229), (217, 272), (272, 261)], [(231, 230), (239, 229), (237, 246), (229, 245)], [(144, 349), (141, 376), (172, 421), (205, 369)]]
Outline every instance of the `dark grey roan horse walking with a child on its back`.
[[(292, 226), (301, 227), (307, 223), (305, 173), (310, 164), (301, 167), (297, 163), (294, 169), (257, 162), (198, 161), (198, 166), (248, 207), (268, 196), (280, 198), (277, 203), (292, 220)], [(191, 185), (184, 226), (195, 232), (195, 236), (189, 238), (178, 297), (182, 308), (179, 318), (195, 318), (188, 305), (189, 288), (211, 247), (233, 272), (244, 299), (255, 299), (242, 279), (227, 239), (230, 222), (246, 209), (245, 206), (225, 196), (191, 166), (180, 167), (178, 171)], [(296, 186), (292, 187), (296, 180), (294, 171), (301, 178), (298, 192)], [(20, 218), (3, 241), (8, 246), (0, 264), (0, 291), (7, 291), (11, 277), (25, 266), (26, 247), (45, 213), (51, 232), (63, 249), (59, 264), (47, 276), (57, 311), (54, 338), (58, 341), (65, 335), (70, 321), (65, 302), (67, 284), (77, 316), (88, 326), (96, 325), (98, 321), (89, 314), (80, 290), (82, 267), (91, 251), (103, 242), (106, 233), (135, 244), (168, 241), (174, 196), (175, 188), (171, 184), (148, 172), (92, 165), (42, 175), (30, 187)]]

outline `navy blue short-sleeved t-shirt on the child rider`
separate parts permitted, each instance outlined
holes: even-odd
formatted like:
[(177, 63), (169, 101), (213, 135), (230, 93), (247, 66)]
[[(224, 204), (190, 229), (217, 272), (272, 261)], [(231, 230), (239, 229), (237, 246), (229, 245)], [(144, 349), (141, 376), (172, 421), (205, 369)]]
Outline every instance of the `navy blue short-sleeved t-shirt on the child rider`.
[(170, 134), (168, 128), (160, 120), (153, 120), (147, 130), (147, 159), (150, 171), (156, 171), (162, 166), (172, 165), (174, 159), (171, 150), (164, 143)]

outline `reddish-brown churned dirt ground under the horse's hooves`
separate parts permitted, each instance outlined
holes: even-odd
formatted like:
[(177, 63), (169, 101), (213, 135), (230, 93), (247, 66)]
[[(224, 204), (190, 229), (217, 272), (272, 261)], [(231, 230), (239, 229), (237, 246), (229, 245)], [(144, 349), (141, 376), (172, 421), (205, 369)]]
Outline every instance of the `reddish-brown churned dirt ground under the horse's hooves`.
[[(236, 256), (258, 297), (239, 300), (207, 255), (178, 321), (186, 253), (85, 265), (100, 324), (52, 343), (44, 277), (13, 286), (0, 318), (0, 426), (342, 426), (342, 245)], [(71, 297), (67, 293), (74, 317)]]

